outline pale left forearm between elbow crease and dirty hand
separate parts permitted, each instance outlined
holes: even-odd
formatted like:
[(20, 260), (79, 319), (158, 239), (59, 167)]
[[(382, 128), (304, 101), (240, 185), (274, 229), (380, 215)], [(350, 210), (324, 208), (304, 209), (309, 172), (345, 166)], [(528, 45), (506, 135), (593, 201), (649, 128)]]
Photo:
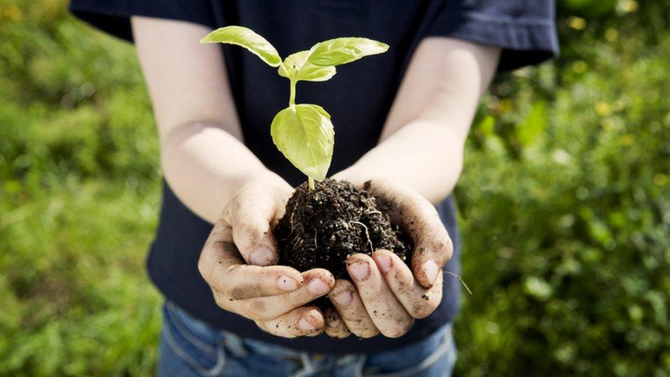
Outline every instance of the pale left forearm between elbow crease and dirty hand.
[(176, 196), (209, 222), (251, 181), (290, 185), (216, 124), (187, 124), (161, 137), (161, 165)]

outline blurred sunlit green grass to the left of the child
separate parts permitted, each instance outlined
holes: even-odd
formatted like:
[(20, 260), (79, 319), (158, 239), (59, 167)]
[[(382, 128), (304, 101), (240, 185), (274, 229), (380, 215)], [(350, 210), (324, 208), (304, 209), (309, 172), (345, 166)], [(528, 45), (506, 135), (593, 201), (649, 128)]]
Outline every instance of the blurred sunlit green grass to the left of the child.
[(150, 102), (132, 47), (66, 5), (0, 0), (0, 375), (149, 375)]

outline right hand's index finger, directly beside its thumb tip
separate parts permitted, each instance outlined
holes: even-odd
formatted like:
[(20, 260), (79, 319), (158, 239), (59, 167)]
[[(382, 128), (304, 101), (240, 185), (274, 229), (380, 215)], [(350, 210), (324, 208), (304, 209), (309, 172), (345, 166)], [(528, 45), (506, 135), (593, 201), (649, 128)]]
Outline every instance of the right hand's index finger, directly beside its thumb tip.
[(378, 250), (372, 255), (386, 284), (414, 318), (428, 317), (442, 301), (442, 273), (430, 288), (424, 288), (416, 281), (407, 264), (388, 250)]

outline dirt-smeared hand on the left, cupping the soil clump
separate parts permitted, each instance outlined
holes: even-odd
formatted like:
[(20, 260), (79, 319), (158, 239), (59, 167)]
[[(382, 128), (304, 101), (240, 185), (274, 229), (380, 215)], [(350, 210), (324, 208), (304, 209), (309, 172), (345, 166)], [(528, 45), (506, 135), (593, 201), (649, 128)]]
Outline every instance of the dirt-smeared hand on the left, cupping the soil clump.
[(288, 184), (250, 183), (228, 203), (198, 261), (216, 304), (252, 319), (266, 332), (286, 338), (323, 332), (323, 314), (304, 306), (333, 288), (324, 269), (299, 273), (276, 266), (271, 226), (292, 189)]

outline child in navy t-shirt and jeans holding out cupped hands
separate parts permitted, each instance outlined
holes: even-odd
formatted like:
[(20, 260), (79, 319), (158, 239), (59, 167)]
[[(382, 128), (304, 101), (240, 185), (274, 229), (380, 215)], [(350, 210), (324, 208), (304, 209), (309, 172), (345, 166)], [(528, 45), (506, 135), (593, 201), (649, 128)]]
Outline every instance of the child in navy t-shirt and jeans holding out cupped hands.
[[(553, 1), (73, 0), (71, 10), (135, 42), (157, 119), (165, 184), (148, 270), (166, 297), (161, 376), (450, 374), (460, 286), (442, 271), (459, 271), (450, 192), (463, 144), (496, 70), (557, 52)], [(354, 254), (349, 282), (276, 265), (270, 223), (304, 179), (270, 139), (288, 84), (240, 47), (198, 43), (225, 25), (255, 30), (281, 56), (338, 36), (391, 46), (318, 88), (301, 83), (299, 97), (333, 115), (334, 178), (371, 181), (415, 220), (411, 267)], [(326, 312), (309, 306), (324, 295)]]

